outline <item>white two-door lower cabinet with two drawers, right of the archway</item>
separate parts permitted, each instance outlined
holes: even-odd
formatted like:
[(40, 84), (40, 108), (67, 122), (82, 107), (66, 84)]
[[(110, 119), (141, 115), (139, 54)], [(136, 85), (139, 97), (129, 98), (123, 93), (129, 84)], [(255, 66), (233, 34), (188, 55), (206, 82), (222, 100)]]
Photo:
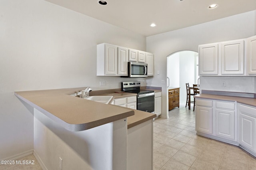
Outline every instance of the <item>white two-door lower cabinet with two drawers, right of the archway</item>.
[(236, 141), (234, 102), (196, 99), (196, 131)]

